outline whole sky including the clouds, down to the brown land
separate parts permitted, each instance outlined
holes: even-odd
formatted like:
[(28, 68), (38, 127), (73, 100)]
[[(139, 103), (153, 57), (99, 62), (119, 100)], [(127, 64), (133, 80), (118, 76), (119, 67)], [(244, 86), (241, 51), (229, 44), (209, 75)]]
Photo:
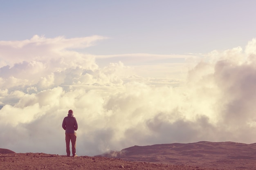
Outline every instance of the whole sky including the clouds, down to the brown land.
[(254, 0), (0, 0), (0, 148), (256, 142)]

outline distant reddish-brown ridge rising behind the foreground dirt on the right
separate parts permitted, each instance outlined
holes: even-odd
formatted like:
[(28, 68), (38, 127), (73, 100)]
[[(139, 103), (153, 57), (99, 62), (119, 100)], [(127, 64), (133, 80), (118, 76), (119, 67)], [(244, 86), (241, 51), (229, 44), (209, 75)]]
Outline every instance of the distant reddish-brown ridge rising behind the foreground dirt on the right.
[(200, 141), (189, 144), (155, 144), (132, 146), (97, 156), (126, 161), (200, 165), (218, 169), (256, 169), (256, 143)]

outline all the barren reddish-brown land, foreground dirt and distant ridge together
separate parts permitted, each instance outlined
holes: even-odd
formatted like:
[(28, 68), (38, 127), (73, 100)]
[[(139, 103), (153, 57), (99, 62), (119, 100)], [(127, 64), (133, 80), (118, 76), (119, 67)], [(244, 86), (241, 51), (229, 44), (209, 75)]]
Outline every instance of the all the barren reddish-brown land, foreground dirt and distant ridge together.
[(0, 149), (0, 170), (255, 170), (256, 144), (207, 142), (133, 146), (95, 157)]

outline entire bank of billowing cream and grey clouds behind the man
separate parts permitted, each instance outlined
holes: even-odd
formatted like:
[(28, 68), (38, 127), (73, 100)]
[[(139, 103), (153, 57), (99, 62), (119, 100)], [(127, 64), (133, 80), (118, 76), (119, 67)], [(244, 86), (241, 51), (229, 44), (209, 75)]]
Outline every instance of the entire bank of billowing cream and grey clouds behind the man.
[[(244, 51), (190, 58), (76, 51), (104, 39), (35, 35), (0, 42), (0, 148), (65, 155), (61, 124), (69, 109), (79, 123), (78, 155), (134, 145), (256, 141), (256, 39)], [(129, 56), (143, 62), (135, 66)]]

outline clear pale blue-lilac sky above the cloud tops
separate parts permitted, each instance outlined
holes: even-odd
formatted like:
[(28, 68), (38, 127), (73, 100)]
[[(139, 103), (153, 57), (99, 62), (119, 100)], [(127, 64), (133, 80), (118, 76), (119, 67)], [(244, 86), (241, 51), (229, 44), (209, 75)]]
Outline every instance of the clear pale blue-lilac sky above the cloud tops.
[(208, 53), (256, 37), (255, 0), (1, 0), (0, 40), (111, 39), (84, 52)]

